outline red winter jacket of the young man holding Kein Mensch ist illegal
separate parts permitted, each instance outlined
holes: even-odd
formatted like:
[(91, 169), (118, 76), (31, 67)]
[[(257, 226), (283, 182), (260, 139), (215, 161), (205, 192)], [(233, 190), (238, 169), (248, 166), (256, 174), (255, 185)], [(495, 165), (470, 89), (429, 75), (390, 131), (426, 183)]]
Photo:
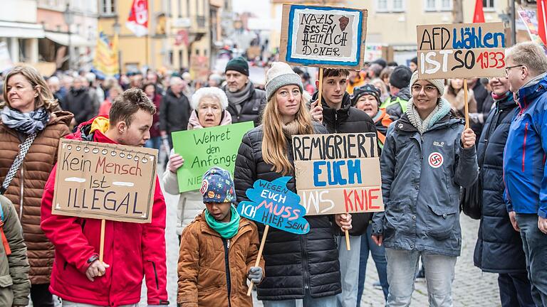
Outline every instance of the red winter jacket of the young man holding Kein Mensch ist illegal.
[[(100, 131), (86, 135), (93, 119), (80, 124), (67, 139), (115, 143)], [(104, 259), (110, 268), (105, 276), (89, 281), (88, 259), (99, 252), (100, 220), (51, 214), (55, 174), (53, 167), (41, 203), (41, 227), (55, 246), (51, 293), (76, 303), (120, 306), (138, 303), (142, 278), (146, 277), (149, 304), (167, 303), (165, 254), (165, 200), (156, 178), (152, 222), (106, 221)]]

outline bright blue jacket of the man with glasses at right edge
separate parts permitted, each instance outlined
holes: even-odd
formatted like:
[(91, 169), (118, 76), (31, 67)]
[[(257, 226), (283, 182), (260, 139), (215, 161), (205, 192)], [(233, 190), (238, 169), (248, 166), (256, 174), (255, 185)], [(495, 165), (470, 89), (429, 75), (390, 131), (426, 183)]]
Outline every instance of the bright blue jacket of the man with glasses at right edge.
[(547, 77), (519, 90), (504, 151), (507, 210), (547, 218)]

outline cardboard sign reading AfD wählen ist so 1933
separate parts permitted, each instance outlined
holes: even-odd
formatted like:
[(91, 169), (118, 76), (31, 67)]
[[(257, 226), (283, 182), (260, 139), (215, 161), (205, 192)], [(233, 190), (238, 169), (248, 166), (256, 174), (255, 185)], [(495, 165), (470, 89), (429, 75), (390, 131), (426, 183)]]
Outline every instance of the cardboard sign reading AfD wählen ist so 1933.
[(504, 23), (417, 26), (418, 79), (505, 76)]

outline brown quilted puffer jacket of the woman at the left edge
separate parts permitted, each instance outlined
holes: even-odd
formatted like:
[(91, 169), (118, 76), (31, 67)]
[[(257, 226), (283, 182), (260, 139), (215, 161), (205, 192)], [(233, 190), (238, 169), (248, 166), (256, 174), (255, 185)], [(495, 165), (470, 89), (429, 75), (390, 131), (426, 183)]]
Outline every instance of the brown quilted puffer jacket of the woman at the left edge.
[[(34, 139), (25, 160), (4, 196), (14, 203), (23, 226), (23, 234), (31, 264), (32, 284), (48, 284), (53, 266), (53, 245), (40, 229), (40, 203), (43, 187), (57, 161), (59, 139), (70, 133), (68, 125), (73, 114), (58, 111), (51, 114), (48, 125)], [(19, 153), (24, 139), (0, 120), (0, 184)], [(24, 180), (21, 182), (21, 178)]]

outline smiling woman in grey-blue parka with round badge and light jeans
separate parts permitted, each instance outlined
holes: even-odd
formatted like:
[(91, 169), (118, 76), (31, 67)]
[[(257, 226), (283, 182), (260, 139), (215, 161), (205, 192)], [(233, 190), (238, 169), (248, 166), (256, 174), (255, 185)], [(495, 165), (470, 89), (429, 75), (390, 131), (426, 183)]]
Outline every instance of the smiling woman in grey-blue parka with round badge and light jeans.
[(387, 130), (380, 158), (385, 212), (373, 217), (384, 244), (387, 306), (409, 306), (422, 257), (429, 306), (452, 306), (454, 266), (462, 249), (459, 190), (476, 181), (475, 134), (442, 98), (444, 80), (410, 80), (407, 111)]

